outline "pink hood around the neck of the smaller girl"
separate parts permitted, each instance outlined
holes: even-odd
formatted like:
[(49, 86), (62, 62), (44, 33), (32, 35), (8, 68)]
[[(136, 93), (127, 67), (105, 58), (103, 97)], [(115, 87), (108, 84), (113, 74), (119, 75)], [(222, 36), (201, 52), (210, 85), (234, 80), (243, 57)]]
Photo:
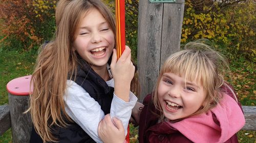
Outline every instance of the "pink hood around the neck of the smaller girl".
[[(212, 119), (217, 119), (220, 126)], [(176, 123), (169, 123), (191, 141), (203, 143), (225, 142), (236, 134), (244, 124), (245, 118), (238, 103), (225, 94), (220, 103), (208, 112)]]

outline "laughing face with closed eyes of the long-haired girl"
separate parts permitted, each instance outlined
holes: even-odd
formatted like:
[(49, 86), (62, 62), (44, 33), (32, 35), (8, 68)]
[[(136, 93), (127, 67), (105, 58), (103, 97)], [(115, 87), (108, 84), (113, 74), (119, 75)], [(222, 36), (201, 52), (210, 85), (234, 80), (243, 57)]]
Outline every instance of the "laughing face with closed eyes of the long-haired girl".
[(94, 67), (105, 66), (115, 45), (110, 25), (97, 9), (89, 10), (83, 17), (74, 47), (78, 54)]

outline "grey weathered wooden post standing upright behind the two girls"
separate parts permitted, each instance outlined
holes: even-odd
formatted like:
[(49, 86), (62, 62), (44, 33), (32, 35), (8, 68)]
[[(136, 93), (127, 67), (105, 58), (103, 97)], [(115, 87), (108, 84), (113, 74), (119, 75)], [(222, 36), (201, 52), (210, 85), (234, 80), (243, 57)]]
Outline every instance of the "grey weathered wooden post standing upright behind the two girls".
[(184, 0), (175, 3), (139, 1), (138, 71), (141, 84), (139, 101), (152, 93), (161, 65), (180, 50)]

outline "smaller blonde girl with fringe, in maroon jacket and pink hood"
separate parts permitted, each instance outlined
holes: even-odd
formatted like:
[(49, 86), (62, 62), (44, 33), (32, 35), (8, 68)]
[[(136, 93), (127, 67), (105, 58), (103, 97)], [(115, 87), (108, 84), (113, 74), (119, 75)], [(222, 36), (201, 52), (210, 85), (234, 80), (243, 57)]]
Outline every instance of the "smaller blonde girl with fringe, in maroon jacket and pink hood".
[(191, 42), (165, 61), (140, 115), (140, 142), (238, 142), (245, 119), (220, 53)]

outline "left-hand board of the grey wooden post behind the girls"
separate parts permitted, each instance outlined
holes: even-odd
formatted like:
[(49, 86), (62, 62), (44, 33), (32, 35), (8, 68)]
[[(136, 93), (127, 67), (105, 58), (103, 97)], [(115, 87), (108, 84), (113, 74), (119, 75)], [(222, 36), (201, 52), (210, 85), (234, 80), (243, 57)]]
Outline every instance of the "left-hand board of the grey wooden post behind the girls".
[(142, 87), (139, 100), (152, 92), (159, 74), (162, 15), (162, 3), (139, 1), (138, 71)]

